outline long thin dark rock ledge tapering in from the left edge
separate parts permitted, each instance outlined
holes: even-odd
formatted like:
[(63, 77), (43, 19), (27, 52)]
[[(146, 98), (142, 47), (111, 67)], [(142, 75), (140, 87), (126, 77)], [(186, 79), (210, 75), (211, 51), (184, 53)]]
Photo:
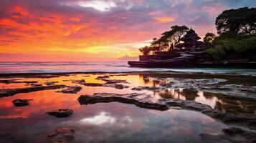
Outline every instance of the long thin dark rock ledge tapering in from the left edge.
[(62, 89), (67, 86), (65, 85), (49, 85), (49, 86), (39, 86), (39, 87), (27, 87), (21, 89), (0, 89), (0, 97), (9, 97), (19, 93), (29, 93), (37, 92), (40, 90), (49, 90), (49, 89)]

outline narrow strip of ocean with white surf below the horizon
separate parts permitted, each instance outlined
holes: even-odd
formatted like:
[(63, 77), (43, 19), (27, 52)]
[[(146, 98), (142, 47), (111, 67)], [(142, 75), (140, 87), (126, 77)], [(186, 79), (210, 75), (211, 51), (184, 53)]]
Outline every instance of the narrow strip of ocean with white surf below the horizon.
[(130, 67), (127, 61), (69, 61), (69, 62), (0, 62), (0, 73), (59, 73), (59, 72), (130, 72), (130, 71), (184, 71), (213, 74), (242, 74), (256, 76), (256, 69), (163, 69)]

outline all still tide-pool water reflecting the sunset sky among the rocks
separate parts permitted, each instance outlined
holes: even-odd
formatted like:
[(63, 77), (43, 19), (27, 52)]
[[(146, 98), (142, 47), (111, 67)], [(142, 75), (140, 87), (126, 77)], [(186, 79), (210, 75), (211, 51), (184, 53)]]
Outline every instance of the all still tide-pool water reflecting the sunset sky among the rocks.
[[(103, 83), (97, 80), (95, 74), (72, 74), (70, 76), (41, 78), (18, 78), (18, 81), (58, 82), (57, 84), (77, 85), (82, 90), (77, 94), (57, 93), (60, 89), (44, 90), (26, 94), (16, 94), (13, 97), (0, 98), (0, 142), (33, 142), (39, 137), (57, 127), (75, 129), (77, 142), (199, 142), (201, 133), (220, 134), (227, 125), (207, 117), (199, 112), (185, 109), (169, 109), (161, 112), (153, 109), (142, 109), (132, 104), (99, 103), (80, 105), (77, 98), (81, 94), (109, 92), (117, 94), (134, 93), (131, 90), (138, 86), (158, 87), (161, 82), (140, 74), (113, 76), (110, 79), (126, 79), (128, 89), (114, 89), (110, 87), (85, 87), (72, 84), (72, 80), (85, 79), (88, 83)], [(102, 75), (101, 75), (102, 76)], [(3, 84), (0, 88), (23, 88), (30, 85), (16, 83)], [(160, 92), (141, 91), (151, 94), (152, 101), (161, 98), (191, 99), (182, 94), (183, 89), (166, 89)], [(163, 96), (164, 94), (164, 96)], [(208, 94), (207, 94), (208, 95)], [(166, 97), (167, 96), (167, 97)], [(33, 99), (27, 107), (14, 107), (14, 99)], [(212, 108), (227, 110), (230, 106), (241, 108), (235, 100), (225, 101), (222, 98), (206, 96), (198, 92), (193, 97), (196, 102), (209, 104)], [(255, 103), (252, 103), (255, 104)], [(73, 109), (74, 114), (67, 118), (51, 117), (44, 112), (54, 109)], [(227, 110), (228, 111), (228, 110)]]

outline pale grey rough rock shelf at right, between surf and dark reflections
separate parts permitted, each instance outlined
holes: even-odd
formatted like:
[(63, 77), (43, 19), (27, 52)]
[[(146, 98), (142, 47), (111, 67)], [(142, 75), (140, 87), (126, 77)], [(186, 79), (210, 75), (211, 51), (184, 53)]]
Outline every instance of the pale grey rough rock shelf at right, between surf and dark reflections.
[[(184, 74), (184, 76), (187, 76), (187, 75), (189, 74)], [(166, 78), (166, 79), (152, 78), (152, 79), (158, 79), (160, 81), (168, 82), (166, 84), (164, 83), (159, 84), (159, 88), (161, 90), (163, 90), (164, 88), (171, 88), (171, 89), (189, 88), (189, 89), (202, 91), (202, 92), (226, 94), (229, 97), (239, 97), (244, 99), (256, 100), (255, 85), (244, 85), (243, 83), (229, 84), (227, 79), (217, 79), (217, 78), (202, 79), (196, 76), (195, 78), (197, 79), (193, 79), (191, 77), (189, 77), (188, 79), (182, 79), (182, 78)], [(237, 77), (237, 80), (239, 80), (239, 77)], [(248, 81), (250, 82), (250, 79), (248, 79)], [(186, 92), (184, 92), (184, 94), (186, 94)]]

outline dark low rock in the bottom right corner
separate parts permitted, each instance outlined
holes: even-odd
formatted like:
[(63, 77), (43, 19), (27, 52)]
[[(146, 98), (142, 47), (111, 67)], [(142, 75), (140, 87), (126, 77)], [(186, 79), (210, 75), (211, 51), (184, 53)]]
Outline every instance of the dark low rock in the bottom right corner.
[(200, 134), (202, 137), (202, 142), (205, 143), (214, 143), (214, 142), (223, 142), (223, 143), (232, 143), (232, 142), (256, 142), (256, 133), (244, 131), (237, 127), (230, 127), (228, 129), (223, 129), (224, 134), (212, 135), (212, 134)]

